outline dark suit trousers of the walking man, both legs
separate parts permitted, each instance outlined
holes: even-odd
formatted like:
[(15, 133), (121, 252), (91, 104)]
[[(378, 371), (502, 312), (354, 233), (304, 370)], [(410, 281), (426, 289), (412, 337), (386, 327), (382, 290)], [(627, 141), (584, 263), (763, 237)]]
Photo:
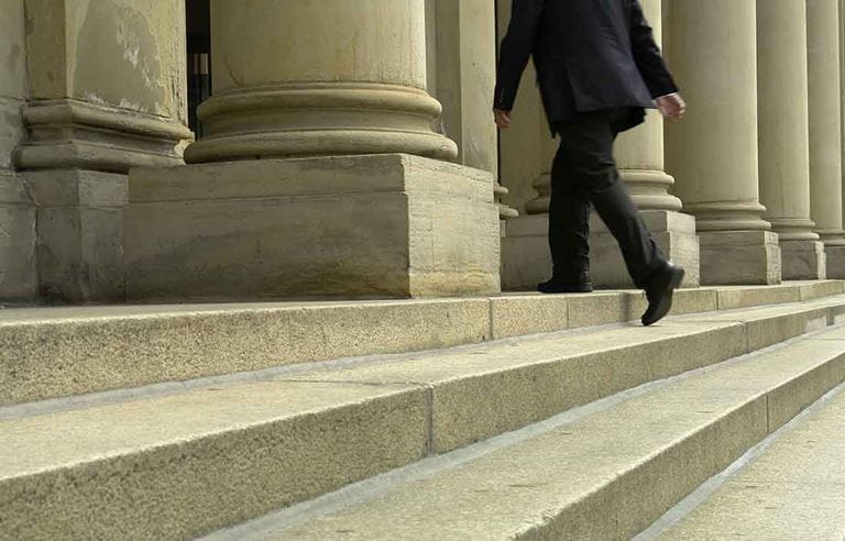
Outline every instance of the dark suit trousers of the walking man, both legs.
[(555, 123), (560, 148), (551, 168), (549, 247), (555, 279), (577, 283), (590, 268), (590, 210), (619, 243), (628, 274), (645, 287), (666, 258), (651, 239), (616, 170), (613, 144), (627, 110), (580, 113)]

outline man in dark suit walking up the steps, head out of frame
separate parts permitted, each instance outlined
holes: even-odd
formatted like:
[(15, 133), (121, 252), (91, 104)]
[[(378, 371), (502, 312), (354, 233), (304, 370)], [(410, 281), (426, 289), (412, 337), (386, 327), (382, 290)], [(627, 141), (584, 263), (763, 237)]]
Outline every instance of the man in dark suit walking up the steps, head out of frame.
[(589, 292), (591, 206), (619, 243), (649, 301), (643, 324), (663, 318), (684, 272), (660, 253), (616, 170), (613, 143), (655, 104), (679, 120), (685, 104), (655, 43), (639, 0), (513, 0), (502, 42), (495, 121), (511, 110), (534, 56), (546, 115), (560, 148), (551, 169), (549, 247), (552, 277), (542, 292)]

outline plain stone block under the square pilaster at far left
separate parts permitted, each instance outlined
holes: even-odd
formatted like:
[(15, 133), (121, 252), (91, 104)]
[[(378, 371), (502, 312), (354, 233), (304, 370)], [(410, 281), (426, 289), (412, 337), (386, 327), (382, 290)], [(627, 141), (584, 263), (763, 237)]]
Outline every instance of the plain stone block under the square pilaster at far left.
[(122, 301), (127, 175), (81, 169), (25, 174), (37, 203), (41, 295)]

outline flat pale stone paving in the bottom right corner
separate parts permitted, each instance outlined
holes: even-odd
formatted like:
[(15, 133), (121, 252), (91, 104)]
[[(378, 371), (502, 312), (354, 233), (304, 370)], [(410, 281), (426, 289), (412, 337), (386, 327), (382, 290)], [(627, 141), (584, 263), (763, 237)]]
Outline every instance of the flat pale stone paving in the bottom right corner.
[(648, 539), (845, 539), (845, 386), (801, 417)]

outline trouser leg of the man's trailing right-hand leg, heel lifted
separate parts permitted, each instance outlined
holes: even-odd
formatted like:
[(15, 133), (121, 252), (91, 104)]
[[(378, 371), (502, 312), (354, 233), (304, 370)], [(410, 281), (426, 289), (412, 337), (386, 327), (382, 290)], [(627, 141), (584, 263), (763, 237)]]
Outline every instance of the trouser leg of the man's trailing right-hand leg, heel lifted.
[[(612, 112), (596, 111), (560, 126), (559, 183), (583, 195), (619, 244), (628, 274), (637, 287), (666, 264), (639, 211), (616, 170)], [(553, 174), (553, 172), (552, 172)], [(567, 178), (563, 178), (567, 177)]]

